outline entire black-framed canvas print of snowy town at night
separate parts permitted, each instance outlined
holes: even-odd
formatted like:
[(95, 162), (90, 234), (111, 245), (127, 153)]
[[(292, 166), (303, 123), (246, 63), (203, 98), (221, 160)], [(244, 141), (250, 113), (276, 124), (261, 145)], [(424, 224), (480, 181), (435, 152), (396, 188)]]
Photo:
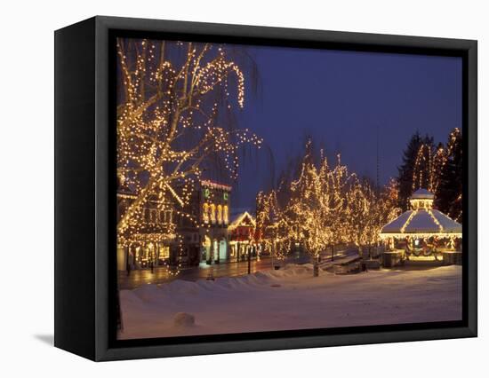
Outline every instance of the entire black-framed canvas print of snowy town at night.
[(95, 17), (55, 33), (55, 345), (477, 335), (477, 42)]

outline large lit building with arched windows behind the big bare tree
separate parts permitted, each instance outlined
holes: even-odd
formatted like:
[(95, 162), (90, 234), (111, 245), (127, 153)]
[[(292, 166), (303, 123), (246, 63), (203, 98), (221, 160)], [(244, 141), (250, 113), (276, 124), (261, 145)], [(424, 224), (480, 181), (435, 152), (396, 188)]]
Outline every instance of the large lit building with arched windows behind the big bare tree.
[[(131, 242), (117, 240), (117, 269), (182, 268), (230, 261), (231, 186), (202, 180), (185, 203), (174, 191), (164, 193), (145, 201)], [(135, 199), (129, 191), (117, 193), (118, 219)]]

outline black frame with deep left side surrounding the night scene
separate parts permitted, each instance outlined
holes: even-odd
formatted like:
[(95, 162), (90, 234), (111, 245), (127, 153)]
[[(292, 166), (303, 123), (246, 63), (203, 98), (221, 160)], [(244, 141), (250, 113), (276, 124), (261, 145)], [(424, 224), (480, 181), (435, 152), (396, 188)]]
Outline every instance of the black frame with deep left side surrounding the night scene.
[[(117, 341), (115, 37), (462, 58), (463, 319)], [(55, 32), (55, 346), (97, 361), (477, 336), (477, 41), (97, 16)]]

